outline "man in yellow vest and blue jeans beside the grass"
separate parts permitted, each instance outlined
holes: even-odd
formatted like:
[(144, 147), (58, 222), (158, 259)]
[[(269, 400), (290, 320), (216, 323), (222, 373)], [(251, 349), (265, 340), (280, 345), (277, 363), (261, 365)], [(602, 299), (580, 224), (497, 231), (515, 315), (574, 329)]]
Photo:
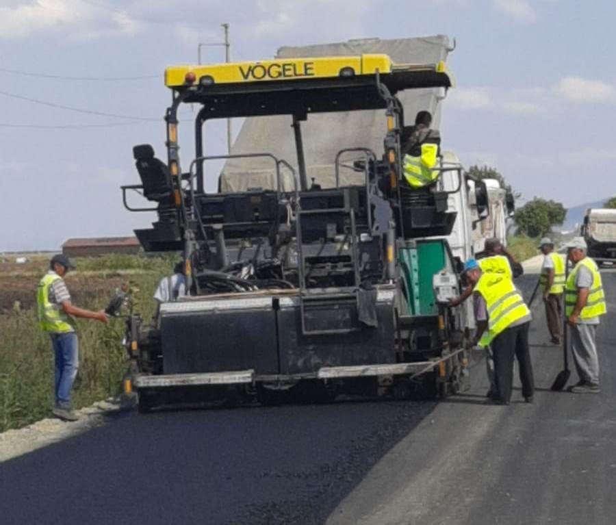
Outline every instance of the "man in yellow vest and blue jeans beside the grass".
[(103, 310), (85, 310), (71, 303), (64, 276), (72, 268), (75, 267), (68, 257), (51, 257), (49, 272), (40, 280), (36, 294), (40, 329), (49, 333), (55, 353), (55, 406), (52, 412), (65, 421), (78, 419), (70, 407), (70, 390), (79, 370), (79, 342), (75, 333), (75, 318), (109, 321), (109, 316)]

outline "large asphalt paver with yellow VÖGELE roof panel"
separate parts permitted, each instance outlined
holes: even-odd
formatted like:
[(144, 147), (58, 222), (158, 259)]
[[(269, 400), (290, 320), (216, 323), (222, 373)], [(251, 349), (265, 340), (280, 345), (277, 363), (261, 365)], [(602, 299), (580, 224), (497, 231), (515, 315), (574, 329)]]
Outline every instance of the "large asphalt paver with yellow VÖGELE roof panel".
[[(439, 179), (411, 188), (402, 173), (405, 115), (396, 94), (452, 86), (443, 62), (387, 55), (170, 67), (167, 159), (133, 149), (141, 183), (122, 188), (131, 211), (155, 211), (136, 235), (145, 251), (183, 254), (188, 295), (160, 308), (157, 327), (129, 320), (131, 376), (150, 409), (172, 392), (235, 392), (273, 402), (311, 392), (405, 397), (459, 388), (467, 363), (458, 309), (459, 261), (444, 236), (456, 212)], [(178, 111), (198, 107), (195, 157), (183, 169)], [(340, 149), (309, 180), (303, 124), (316, 115), (382, 110), (383, 149)], [(284, 115), (296, 157), (268, 151), (208, 156), (211, 119)], [(240, 158), (269, 167), (222, 174), (207, 192), (205, 164)], [(446, 170), (437, 164), (436, 170)], [(209, 173), (210, 170), (208, 169)], [(350, 174), (350, 175), (349, 175)], [(324, 181), (324, 182), (323, 182)], [(129, 204), (137, 191), (150, 201)], [(178, 394), (179, 393), (179, 394)]]

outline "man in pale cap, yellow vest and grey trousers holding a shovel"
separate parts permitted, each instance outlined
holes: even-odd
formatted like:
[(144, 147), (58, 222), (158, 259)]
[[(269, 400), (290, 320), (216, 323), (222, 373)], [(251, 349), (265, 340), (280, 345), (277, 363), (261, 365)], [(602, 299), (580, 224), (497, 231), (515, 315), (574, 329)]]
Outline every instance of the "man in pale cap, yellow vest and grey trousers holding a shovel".
[(566, 245), (567, 257), (575, 265), (565, 283), (565, 316), (570, 327), (571, 347), (580, 381), (569, 392), (598, 394), (599, 355), (595, 331), (606, 313), (601, 274), (587, 257), (586, 241), (576, 237)]

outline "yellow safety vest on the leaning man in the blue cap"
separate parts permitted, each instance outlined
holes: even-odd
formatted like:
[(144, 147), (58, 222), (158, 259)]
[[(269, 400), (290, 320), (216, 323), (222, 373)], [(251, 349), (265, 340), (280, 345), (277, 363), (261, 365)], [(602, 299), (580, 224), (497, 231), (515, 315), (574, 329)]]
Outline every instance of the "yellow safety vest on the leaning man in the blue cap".
[(488, 346), (514, 322), (530, 321), (530, 310), (511, 279), (484, 273), (474, 291), (483, 296), (488, 311), (487, 331), (481, 336), (479, 346)]

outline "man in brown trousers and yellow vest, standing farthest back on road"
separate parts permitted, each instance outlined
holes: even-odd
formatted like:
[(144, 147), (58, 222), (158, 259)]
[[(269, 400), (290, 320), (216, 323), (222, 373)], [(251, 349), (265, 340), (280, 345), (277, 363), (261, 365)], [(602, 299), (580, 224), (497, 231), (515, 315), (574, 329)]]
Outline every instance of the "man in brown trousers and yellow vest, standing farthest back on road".
[(546, 320), (550, 331), (550, 342), (561, 344), (563, 331), (563, 292), (565, 291), (565, 261), (554, 252), (554, 243), (548, 237), (541, 239), (539, 249), (543, 257), (539, 285), (546, 305)]

